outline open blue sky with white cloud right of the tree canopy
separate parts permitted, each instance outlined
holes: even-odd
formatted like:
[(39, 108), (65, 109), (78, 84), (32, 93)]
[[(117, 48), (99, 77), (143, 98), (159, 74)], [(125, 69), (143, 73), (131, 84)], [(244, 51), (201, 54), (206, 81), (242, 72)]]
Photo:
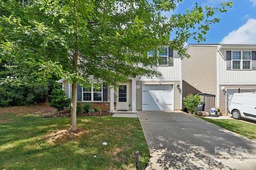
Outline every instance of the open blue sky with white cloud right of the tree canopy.
[[(215, 15), (220, 22), (210, 25), (206, 41), (201, 43), (256, 44), (256, 0), (183, 0), (174, 14), (192, 10), (196, 2), (200, 6), (218, 7), (222, 2), (229, 1), (233, 2), (232, 8), (228, 7), (227, 13)], [(189, 39), (189, 44), (197, 44), (197, 41)]]

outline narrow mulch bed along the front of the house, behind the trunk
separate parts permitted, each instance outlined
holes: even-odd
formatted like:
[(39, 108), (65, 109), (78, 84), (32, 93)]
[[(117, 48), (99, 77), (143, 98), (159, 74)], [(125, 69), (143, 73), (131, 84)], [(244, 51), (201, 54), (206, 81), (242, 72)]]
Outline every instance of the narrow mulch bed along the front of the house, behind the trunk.
[[(109, 113), (108, 111), (102, 111), (101, 113), (99, 111), (96, 111), (94, 113), (79, 113), (76, 114), (76, 116), (106, 116), (106, 115), (113, 115), (113, 113)], [(67, 112), (60, 112), (60, 113), (50, 113), (43, 116), (44, 118), (48, 117), (70, 117), (70, 111)]]

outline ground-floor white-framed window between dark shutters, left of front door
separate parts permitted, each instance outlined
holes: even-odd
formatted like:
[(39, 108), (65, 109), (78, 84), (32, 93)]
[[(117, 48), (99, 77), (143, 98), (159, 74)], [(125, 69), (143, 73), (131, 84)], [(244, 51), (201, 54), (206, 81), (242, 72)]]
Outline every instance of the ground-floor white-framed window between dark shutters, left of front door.
[(83, 88), (83, 101), (102, 102), (102, 85), (99, 89), (94, 87)]

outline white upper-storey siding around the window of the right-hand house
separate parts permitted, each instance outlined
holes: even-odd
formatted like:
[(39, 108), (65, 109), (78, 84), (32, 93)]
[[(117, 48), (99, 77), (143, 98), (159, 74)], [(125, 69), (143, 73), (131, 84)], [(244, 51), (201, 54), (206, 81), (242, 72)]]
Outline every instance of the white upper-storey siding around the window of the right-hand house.
[(220, 83), (254, 83), (256, 82), (256, 70), (227, 70), (226, 51), (256, 51), (256, 49), (220, 49)]

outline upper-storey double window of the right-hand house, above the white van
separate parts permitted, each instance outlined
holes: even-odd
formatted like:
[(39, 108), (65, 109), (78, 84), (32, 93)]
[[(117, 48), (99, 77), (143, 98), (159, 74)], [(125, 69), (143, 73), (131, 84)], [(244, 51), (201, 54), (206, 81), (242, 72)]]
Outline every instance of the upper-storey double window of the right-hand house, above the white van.
[(250, 69), (251, 51), (232, 51), (232, 69)]

